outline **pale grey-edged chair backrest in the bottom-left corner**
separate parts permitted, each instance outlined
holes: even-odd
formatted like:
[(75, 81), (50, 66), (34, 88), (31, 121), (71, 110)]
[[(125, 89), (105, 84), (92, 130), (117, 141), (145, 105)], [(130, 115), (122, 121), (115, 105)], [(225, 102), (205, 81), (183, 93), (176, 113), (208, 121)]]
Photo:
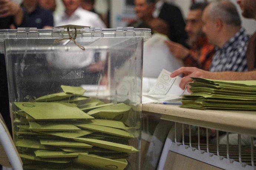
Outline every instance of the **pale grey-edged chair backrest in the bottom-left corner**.
[(14, 170), (23, 170), (22, 160), (0, 113), (0, 164)]

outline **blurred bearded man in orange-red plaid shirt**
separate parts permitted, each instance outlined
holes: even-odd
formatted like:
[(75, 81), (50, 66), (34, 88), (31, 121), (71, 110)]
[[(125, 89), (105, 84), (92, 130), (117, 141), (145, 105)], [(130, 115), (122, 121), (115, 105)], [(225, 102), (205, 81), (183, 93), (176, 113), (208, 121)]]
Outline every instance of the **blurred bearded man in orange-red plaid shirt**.
[(190, 49), (173, 41), (166, 41), (165, 43), (176, 58), (183, 60), (185, 67), (198, 67), (209, 71), (215, 51), (214, 45), (209, 44), (203, 33), (202, 14), (207, 4), (194, 3), (190, 7), (185, 27)]

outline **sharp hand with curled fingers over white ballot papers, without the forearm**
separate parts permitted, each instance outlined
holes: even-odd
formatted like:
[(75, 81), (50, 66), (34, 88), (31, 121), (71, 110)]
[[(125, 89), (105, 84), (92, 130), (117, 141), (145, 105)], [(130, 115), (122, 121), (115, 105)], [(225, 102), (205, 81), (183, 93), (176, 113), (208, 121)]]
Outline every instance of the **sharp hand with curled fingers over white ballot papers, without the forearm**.
[(184, 74), (184, 77), (181, 79), (180, 88), (187, 89), (189, 91), (190, 86), (188, 85), (189, 82), (192, 82), (190, 77), (199, 77), (199, 78), (211, 78), (213, 74), (209, 71), (204, 71), (202, 69), (196, 67), (181, 67), (171, 73), (171, 77), (175, 77), (177, 75)]

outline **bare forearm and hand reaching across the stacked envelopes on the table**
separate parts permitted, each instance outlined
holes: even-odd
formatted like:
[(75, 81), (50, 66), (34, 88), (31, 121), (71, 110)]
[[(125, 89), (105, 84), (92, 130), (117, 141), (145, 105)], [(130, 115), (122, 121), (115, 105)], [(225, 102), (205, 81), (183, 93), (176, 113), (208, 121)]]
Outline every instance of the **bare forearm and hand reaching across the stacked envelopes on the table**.
[(249, 72), (209, 72), (196, 67), (181, 67), (171, 73), (171, 77), (184, 74), (181, 79), (180, 87), (185, 89), (188, 82), (191, 82), (190, 77), (199, 77), (216, 80), (256, 80), (256, 71)]

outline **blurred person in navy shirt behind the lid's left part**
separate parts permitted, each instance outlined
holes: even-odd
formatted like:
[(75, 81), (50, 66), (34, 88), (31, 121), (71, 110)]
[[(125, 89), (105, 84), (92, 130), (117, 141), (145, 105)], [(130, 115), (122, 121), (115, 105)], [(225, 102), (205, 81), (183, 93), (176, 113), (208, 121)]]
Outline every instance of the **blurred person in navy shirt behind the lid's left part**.
[(24, 20), (20, 27), (50, 29), (53, 27), (52, 11), (39, 6), (38, 0), (23, 0)]

